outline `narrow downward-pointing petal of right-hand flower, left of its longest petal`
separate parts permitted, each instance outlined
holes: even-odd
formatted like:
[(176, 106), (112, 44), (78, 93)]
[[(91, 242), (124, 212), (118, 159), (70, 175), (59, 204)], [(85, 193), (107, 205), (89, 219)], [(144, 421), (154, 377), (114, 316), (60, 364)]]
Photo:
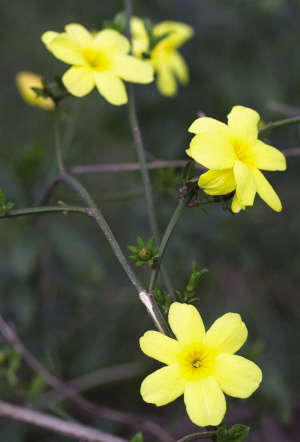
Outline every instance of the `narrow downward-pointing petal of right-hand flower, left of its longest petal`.
[(241, 204), (253, 206), (256, 193), (256, 181), (250, 168), (242, 161), (236, 161), (233, 172)]

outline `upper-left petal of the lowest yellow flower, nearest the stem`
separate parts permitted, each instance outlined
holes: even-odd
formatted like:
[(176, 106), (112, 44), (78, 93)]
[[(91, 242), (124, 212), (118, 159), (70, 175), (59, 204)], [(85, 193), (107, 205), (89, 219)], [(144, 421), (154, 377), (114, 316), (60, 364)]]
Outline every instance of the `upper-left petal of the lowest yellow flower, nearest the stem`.
[(178, 341), (157, 331), (146, 332), (140, 339), (140, 346), (147, 356), (167, 365), (178, 364), (178, 355), (182, 353)]

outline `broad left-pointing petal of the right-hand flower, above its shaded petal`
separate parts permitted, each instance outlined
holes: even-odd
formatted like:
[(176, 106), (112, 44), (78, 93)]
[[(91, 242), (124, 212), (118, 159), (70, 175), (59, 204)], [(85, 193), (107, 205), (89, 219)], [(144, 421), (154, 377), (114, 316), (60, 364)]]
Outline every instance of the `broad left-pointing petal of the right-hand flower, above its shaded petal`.
[(212, 170), (231, 169), (238, 159), (228, 141), (214, 133), (195, 135), (186, 153), (197, 163)]

